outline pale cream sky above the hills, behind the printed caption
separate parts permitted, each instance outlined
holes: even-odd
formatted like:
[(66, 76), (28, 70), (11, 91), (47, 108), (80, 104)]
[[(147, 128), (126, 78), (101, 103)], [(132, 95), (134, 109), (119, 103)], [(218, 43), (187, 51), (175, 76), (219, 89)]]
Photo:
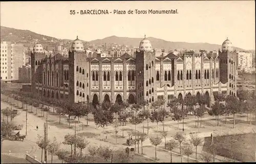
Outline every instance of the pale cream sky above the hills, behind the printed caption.
[[(155, 37), (172, 42), (222, 44), (255, 49), (254, 1), (1, 2), (0, 23), (58, 39), (91, 41), (109, 36)], [(127, 14), (132, 10), (178, 14)], [(108, 15), (70, 14), (108, 10)], [(126, 11), (113, 14), (114, 10)], [(112, 13), (110, 13), (112, 12)]]

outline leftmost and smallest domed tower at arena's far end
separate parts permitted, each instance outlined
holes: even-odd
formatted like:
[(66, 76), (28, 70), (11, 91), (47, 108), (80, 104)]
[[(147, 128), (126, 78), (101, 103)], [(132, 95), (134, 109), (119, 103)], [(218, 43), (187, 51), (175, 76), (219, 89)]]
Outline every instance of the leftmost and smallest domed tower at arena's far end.
[(41, 61), (45, 58), (44, 48), (40, 43), (36, 43), (31, 53), (31, 86), (35, 91), (35, 83), (42, 84)]

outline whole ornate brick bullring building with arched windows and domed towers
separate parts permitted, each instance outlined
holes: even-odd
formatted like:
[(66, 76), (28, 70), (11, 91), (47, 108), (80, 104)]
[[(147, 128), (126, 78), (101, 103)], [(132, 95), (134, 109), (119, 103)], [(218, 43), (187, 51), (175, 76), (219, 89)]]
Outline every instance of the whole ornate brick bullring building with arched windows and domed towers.
[(236, 95), (236, 50), (227, 39), (219, 56), (187, 52), (156, 57), (151, 42), (144, 38), (136, 58), (123, 54), (118, 58), (89, 58), (77, 38), (69, 58), (60, 54), (45, 57), (31, 52), (32, 90), (42, 96), (69, 99), (72, 102), (128, 101), (140, 103), (163, 99), (167, 103), (186, 94)]

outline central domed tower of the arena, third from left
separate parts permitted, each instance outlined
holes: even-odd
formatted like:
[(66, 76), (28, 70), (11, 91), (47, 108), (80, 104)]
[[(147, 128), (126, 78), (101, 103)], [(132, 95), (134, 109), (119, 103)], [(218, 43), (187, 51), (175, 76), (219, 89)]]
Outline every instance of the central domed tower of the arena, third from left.
[(137, 103), (143, 102), (144, 100), (151, 101), (152, 96), (156, 92), (150, 90), (155, 88), (151, 81), (154, 81), (155, 77), (155, 51), (151, 45), (150, 40), (144, 36), (144, 39), (140, 41), (139, 48), (136, 51), (136, 97)]

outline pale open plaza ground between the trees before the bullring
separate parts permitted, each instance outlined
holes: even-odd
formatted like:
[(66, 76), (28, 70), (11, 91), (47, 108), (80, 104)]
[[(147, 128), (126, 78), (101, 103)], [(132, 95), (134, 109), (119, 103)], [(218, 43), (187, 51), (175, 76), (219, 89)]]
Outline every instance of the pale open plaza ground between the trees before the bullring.
[[(2, 99), (7, 99), (6, 96), (1, 95)], [(22, 105), (22, 102), (17, 102), (16, 100), (13, 100), (12, 98), (9, 98), (9, 101), (12, 101), (14, 104), (19, 104), (19, 106)], [(7, 102), (1, 101), (1, 108), (5, 108), (6, 106), (10, 106)], [(26, 107), (26, 105), (25, 105)], [(13, 107), (14, 109), (15, 107)], [(28, 105), (28, 111), (31, 110), (31, 106)], [(19, 110), (20, 115), (14, 118), (14, 124), (16, 125), (23, 125), (23, 129), (20, 130), (20, 134), (26, 134), (26, 112)], [(3, 153), (8, 153), (9, 150), (11, 150), (12, 153), (28, 153), (32, 156), (37, 156), (37, 159), (41, 159), (41, 150), (36, 145), (37, 141), (37, 135), (44, 135), (44, 123), (46, 122), (46, 113), (45, 117), (40, 117), (41, 111), (37, 110), (36, 115), (36, 109), (33, 107), (33, 113), (28, 113), (28, 126), (27, 126), (27, 136), (24, 142), (21, 141), (4, 141), (3, 142)], [(219, 125), (218, 130), (215, 130), (215, 118), (205, 115), (204, 118), (202, 118), (202, 126), (199, 128), (199, 133), (197, 134), (200, 138), (204, 138), (205, 136), (210, 136), (212, 133), (214, 136), (217, 135), (225, 135), (225, 134), (232, 134), (232, 133), (248, 133), (256, 131), (255, 125), (249, 125), (247, 122), (247, 116), (246, 115), (238, 115), (236, 116), (236, 120), (241, 120), (243, 123), (240, 123), (239, 121), (236, 124), (236, 129), (233, 129), (233, 118), (227, 117), (227, 124), (225, 124), (225, 116), (219, 117)], [(252, 117), (254, 118), (254, 117)], [(6, 118), (5, 118), (6, 119)], [(77, 119), (76, 119), (77, 120)], [(195, 127), (195, 121), (197, 119), (195, 116), (188, 116), (184, 120), (184, 133), (186, 134), (186, 140), (189, 141), (189, 133), (190, 132), (197, 132), (198, 128)], [(9, 120), (10, 121), (10, 120)], [(128, 133), (134, 131), (135, 125), (132, 125), (130, 123), (127, 123), (126, 126), (118, 127), (118, 133), (117, 133), (117, 144), (116, 144), (116, 135), (114, 133), (115, 127), (114, 125), (109, 125), (105, 127), (104, 129), (101, 127), (97, 127), (95, 123), (93, 122), (93, 115), (89, 115), (89, 126), (85, 126), (87, 124), (86, 117), (80, 118), (79, 120), (81, 123), (76, 128), (76, 133), (84, 136), (86, 140), (90, 142), (90, 145), (105, 145), (110, 146), (114, 150), (125, 150), (126, 146), (126, 139), (128, 138)], [(147, 120), (143, 122), (144, 124), (144, 132), (147, 133)], [(148, 138), (146, 141), (143, 142), (143, 153), (145, 158), (139, 158), (136, 159), (136, 162), (140, 162), (140, 160), (143, 160), (145, 162), (148, 158), (155, 159), (155, 147), (152, 146), (152, 144), (149, 141), (150, 136), (156, 136), (161, 135), (161, 131), (163, 131), (163, 124), (158, 123), (158, 129), (157, 129), (157, 123), (152, 123), (149, 121), (149, 133)], [(82, 130), (83, 125), (83, 130)], [(120, 124), (119, 124), (120, 125)], [(36, 130), (36, 126), (38, 126), (38, 130)], [(200, 123), (199, 123), (200, 126)], [(178, 128), (179, 127), (179, 128)], [(122, 128), (124, 128), (124, 138), (122, 138)], [(137, 130), (139, 132), (143, 131), (142, 124), (137, 125)], [(168, 131), (168, 135), (166, 137), (166, 141), (172, 139), (172, 136), (177, 131), (182, 131), (182, 121), (179, 123), (176, 121), (172, 121), (171, 118), (167, 118), (164, 122), (164, 130)], [(67, 117), (61, 117), (61, 123), (59, 124), (59, 116), (55, 113), (53, 113), (53, 108), (50, 107), (50, 112), (48, 115), (48, 139), (52, 140), (55, 136), (57, 141), (62, 143), (64, 141), (64, 136), (68, 133), (74, 134), (74, 123), (71, 123), (71, 127), (69, 127)], [(104, 132), (104, 134), (103, 134)], [(107, 136), (107, 138), (106, 138)], [(105, 139), (106, 138), (106, 139)], [(134, 137), (133, 137), (134, 138)], [(102, 140), (104, 139), (104, 140)], [(164, 143), (164, 139), (162, 140)], [(61, 148), (70, 150), (70, 146), (61, 144)], [(170, 162), (170, 153), (168, 151), (164, 151), (164, 144), (161, 144), (157, 147), (157, 158), (158, 162)], [(77, 151), (80, 152), (80, 150), (77, 149)], [(195, 147), (194, 147), (195, 151)], [(138, 152), (137, 145), (136, 145), (136, 152)], [(173, 162), (181, 162), (181, 157), (179, 156), (179, 148), (176, 148), (173, 150)], [(198, 146), (198, 159), (202, 152), (202, 146)], [(83, 150), (84, 154), (88, 154), (88, 149)], [(141, 143), (139, 144), (139, 153), (141, 153)], [(44, 154), (43, 157), (44, 159)], [(189, 157), (189, 162), (195, 162), (195, 153), (193, 153)], [(217, 156), (217, 159), (215, 161), (222, 161), (224, 157)], [(51, 159), (51, 156), (48, 155), (48, 162), (49, 159)], [(53, 156), (53, 162), (61, 162), (57, 159), (57, 156)], [(155, 160), (148, 159), (147, 162), (156, 162)], [(141, 161), (142, 162), (142, 161)], [(187, 162), (187, 157), (182, 157), (182, 162)]]

